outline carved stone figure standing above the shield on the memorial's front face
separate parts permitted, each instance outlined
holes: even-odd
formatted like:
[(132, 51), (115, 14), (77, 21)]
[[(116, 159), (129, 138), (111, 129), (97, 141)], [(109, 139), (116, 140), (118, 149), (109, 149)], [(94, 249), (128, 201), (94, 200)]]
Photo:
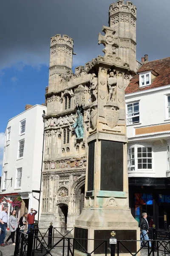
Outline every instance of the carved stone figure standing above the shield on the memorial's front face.
[(116, 84), (117, 84), (116, 75), (114, 75), (114, 73), (111, 72), (108, 78), (108, 89), (109, 89), (108, 101), (115, 101), (116, 99)]

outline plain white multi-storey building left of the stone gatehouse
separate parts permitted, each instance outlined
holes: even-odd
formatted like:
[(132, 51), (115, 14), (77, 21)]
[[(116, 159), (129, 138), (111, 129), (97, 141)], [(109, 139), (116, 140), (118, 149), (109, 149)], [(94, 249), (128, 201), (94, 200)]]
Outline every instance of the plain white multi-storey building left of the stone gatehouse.
[(40, 190), (43, 111), (46, 111), (44, 105), (26, 105), (26, 111), (8, 121), (0, 188), (0, 211), (3, 206), (8, 206), (8, 215), (13, 210), (12, 201), (18, 195), (22, 198), (18, 217), (30, 212), (31, 207), (38, 210), (39, 203), (33, 195), (39, 198), (40, 194), (31, 191)]

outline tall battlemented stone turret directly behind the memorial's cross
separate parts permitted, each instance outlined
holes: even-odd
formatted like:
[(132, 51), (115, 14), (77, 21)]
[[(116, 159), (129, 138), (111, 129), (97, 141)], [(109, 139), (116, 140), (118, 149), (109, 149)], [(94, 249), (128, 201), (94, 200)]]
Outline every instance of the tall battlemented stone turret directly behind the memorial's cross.
[(109, 26), (115, 30), (119, 48), (116, 57), (136, 71), (136, 6), (131, 1), (119, 0), (109, 8)]

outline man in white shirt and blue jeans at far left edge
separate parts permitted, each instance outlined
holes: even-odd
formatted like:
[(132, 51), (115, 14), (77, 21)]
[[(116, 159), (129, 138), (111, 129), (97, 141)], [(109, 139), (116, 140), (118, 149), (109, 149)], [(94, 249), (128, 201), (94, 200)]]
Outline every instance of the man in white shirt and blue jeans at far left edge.
[(1, 228), (1, 233), (0, 233), (0, 246), (5, 246), (4, 240), (6, 238), (6, 228), (8, 226), (8, 207), (4, 206), (3, 211), (0, 212), (0, 228)]

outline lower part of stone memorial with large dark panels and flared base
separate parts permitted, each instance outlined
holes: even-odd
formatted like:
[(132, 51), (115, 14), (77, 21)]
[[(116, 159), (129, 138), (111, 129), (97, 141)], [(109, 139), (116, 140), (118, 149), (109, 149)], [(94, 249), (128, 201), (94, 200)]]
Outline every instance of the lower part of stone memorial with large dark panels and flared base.
[[(116, 135), (110, 134), (109, 139), (108, 134), (105, 136), (99, 132), (88, 137), (85, 208), (74, 226), (74, 238), (80, 238), (79, 243), (88, 253), (101, 244), (98, 239), (110, 239), (111, 231), (116, 232), (117, 240), (140, 239), (138, 222), (131, 215), (128, 206), (126, 138), (122, 137), (123, 141), (120, 142), (119, 137), (119, 141), (116, 141)], [(85, 243), (84, 239), (94, 240)], [(131, 252), (140, 248), (140, 242), (124, 244)], [(119, 249), (120, 252), (127, 253), (124, 247)], [(75, 253), (83, 253), (78, 244)], [(94, 254), (105, 254), (105, 244)]]

